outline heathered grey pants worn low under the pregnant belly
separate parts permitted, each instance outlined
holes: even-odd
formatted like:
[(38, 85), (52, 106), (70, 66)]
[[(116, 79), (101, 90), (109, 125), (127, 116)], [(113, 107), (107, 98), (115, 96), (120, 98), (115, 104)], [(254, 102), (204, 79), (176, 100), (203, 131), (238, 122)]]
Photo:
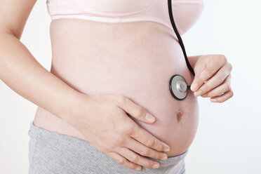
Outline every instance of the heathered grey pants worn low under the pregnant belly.
[(167, 160), (153, 159), (160, 163), (159, 168), (142, 166), (142, 170), (138, 171), (114, 161), (88, 141), (47, 131), (34, 126), (33, 122), (28, 135), (29, 174), (185, 173), (184, 159), (187, 152)]

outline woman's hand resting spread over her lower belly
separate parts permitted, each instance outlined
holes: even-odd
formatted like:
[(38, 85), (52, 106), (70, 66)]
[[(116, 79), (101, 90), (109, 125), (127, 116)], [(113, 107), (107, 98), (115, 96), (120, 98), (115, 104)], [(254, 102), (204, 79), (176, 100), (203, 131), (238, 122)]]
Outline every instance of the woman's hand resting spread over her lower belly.
[[(82, 104), (73, 126), (100, 152), (135, 170), (141, 170), (141, 166), (159, 168), (158, 162), (145, 156), (167, 159), (163, 152), (168, 152), (169, 147), (127, 115), (153, 123), (155, 120), (146, 119), (146, 115), (152, 115), (143, 107), (120, 94), (85, 95)], [(155, 164), (158, 167), (153, 167)]]

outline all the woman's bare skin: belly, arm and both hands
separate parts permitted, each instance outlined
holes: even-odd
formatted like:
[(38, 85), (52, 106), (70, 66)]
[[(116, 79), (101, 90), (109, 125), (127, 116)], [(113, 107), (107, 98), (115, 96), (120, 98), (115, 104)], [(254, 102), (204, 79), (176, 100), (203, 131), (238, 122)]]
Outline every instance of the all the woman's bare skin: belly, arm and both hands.
[[(39, 106), (36, 126), (88, 140), (131, 169), (153, 168), (156, 162), (145, 156), (161, 159), (164, 151), (168, 156), (185, 152), (196, 134), (198, 105), (192, 91), (181, 102), (168, 91), (171, 75), (182, 74), (188, 83), (193, 77), (178, 41), (168, 35), (166, 27), (152, 22), (105, 25), (55, 20), (48, 72), (19, 40), (35, 1), (0, 2), (0, 78)], [(215, 71), (202, 73), (206, 69), (200, 67), (211, 67), (206, 63), (209, 58), (194, 56), (189, 61), (197, 69), (194, 81), (215, 97), (225, 86), (228, 90), (230, 78), (225, 77), (231, 69), (223, 61), (211, 65), (217, 67)], [(223, 71), (215, 75), (218, 69)], [(202, 81), (212, 76), (214, 80), (203, 87)], [(218, 76), (224, 82), (216, 83)], [(223, 87), (210, 92), (213, 86)], [(219, 101), (230, 98), (229, 93)], [(145, 119), (149, 113), (156, 121)], [(170, 151), (164, 150), (163, 142)]]

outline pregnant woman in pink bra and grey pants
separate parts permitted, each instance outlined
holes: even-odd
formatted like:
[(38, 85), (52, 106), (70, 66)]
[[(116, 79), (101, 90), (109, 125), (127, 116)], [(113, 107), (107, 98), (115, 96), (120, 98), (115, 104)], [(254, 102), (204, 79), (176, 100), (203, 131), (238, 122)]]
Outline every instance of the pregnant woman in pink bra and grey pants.
[[(185, 173), (196, 134), (196, 97), (232, 97), (225, 55), (189, 56), (168, 0), (47, 0), (51, 71), (20, 42), (36, 0), (0, 2), (0, 77), (38, 105), (29, 130), (29, 173)], [(182, 35), (202, 0), (173, 0)], [(185, 100), (169, 80), (192, 84)]]

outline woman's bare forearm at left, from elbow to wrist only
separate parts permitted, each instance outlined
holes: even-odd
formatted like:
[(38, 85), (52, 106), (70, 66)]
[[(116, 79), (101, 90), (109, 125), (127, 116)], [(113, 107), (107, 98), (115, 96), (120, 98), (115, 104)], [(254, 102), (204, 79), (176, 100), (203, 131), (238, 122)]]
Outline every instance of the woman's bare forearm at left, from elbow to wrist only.
[(0, 79), (23, 98), (67, 122), (77, 112), (74, 106), (81, 105), (83, 93), (42, 67), (13, 34), (0, 34)]

